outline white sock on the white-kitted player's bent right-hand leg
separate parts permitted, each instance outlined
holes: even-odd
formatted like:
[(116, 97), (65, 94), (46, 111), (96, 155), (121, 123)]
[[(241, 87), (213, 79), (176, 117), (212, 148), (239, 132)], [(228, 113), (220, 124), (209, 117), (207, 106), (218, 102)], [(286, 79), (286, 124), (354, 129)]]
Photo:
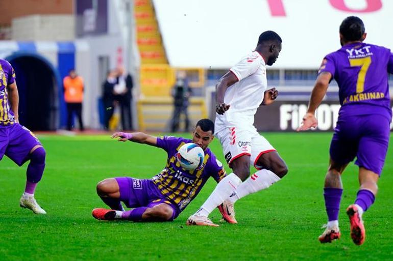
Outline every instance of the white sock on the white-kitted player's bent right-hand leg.
[(262, 189), (266, 189), (279, 180), (281, 179), (270, 170), (258, 170), (237, 187), (237, 189), (229, 196), (229, 201), (235, 203), (238, 199)]

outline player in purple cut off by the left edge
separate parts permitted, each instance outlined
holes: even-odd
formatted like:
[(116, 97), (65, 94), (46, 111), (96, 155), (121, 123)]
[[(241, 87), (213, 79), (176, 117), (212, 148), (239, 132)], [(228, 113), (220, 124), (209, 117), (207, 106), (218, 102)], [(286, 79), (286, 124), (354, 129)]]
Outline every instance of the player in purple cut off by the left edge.
[(19, 124), (18, 106), (14, 69), (6, 60), (0, 59), (0, 160), (6, 155), (18, 166), (30, 160), (19, 205), (36, 214), (46, 214), (34, 198), (45, 168), (45, 150), (33, 133)]

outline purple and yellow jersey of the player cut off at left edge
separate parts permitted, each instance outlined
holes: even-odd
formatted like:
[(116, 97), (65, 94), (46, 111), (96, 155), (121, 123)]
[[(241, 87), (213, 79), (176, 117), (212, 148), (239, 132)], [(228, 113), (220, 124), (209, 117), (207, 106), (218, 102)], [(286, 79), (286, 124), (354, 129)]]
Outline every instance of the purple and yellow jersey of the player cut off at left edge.
[(8, 101), (7, 86), (15, 82), (15, 72), (6, 60), (0, 59), (0, 126), (15, 123), (14, 113)]

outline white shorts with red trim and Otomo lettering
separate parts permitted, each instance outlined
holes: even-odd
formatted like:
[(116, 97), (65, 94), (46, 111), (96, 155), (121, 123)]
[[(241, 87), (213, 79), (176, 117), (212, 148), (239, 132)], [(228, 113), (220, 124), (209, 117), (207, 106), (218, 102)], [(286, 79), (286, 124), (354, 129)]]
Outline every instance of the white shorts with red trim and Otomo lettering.
[(255, 127), (238, 128), (228, 127), (220, 130), (215, 136), (223, 146), (225, 160), (231, 166), (231, 162), (243, 155), (249, 155), (250, 164), (257, 169), (261, 169), (256, 163), (259, 157), (267, 152), (276, 151), (275, 148), (260, 135)]

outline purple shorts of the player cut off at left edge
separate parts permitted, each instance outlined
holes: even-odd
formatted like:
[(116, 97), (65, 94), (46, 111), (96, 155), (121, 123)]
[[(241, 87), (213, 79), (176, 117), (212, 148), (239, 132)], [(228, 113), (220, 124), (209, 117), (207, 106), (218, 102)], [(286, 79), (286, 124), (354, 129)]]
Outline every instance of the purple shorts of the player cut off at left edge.
[(29, 160), (30, 151), (41, 145), (34, 134), (15, 123), (9, 126), (0, 126), (0, 160), (6, 155), (19, 166)]

